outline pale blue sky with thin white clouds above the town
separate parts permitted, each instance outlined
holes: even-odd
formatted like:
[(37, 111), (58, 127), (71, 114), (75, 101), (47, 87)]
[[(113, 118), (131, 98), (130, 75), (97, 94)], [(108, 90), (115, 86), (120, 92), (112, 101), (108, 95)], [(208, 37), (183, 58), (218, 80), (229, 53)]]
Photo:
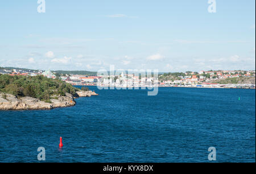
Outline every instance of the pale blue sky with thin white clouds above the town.
[(255, 0), (0, 2), (0, 67), (255, 70)]

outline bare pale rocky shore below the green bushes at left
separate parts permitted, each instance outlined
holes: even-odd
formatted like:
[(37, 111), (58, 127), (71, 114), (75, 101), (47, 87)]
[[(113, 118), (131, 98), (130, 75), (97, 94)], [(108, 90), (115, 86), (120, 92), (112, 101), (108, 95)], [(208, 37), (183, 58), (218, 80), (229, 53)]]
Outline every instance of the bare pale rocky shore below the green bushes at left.
[(32, 97), (16, 98), (11, 94), (0, 93), (0, 110), (49, 110), (57, 107), (75, 106), (74, 98), (77, 97), (98, 96), (95, 92), (82, 90), (76, 94), (77, 96), (72, 96), (69, 93), (66, 93), (65, 96), (55, 96), (54, 99), (50, 100), (51, 103), (47, 103)]

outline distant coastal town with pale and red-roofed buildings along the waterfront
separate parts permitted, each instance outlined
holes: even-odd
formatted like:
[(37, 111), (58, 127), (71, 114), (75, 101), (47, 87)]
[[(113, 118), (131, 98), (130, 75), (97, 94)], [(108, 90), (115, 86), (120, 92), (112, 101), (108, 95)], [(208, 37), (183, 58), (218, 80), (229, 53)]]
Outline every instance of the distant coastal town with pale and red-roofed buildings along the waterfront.
[[(89, 71), (42, 71), (24, 68), (1, 68), (0, 74), (9, 76), (36, 77), (44, 76), (63, 81), (72, 86), (110, 86), (117, 88), (240, 88), (255, 89), (255, 71), (200, 71), (159, 73), (157, 77), (126, 71), (117, 74), (97, 76)], [(74, 93), (74, 92), (73, 92)]]

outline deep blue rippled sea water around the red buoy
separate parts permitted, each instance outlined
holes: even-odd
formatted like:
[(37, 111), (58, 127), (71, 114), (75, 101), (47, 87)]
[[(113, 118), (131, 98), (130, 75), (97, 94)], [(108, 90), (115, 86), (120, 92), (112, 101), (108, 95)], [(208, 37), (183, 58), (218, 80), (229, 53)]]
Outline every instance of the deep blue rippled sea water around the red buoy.
[(0, 111), (0, 162), (37, 162), (38, 147), (46, 162), (209, 162), (209, 147), (255, 162), (253, 89), (90, 89), (73, 107)]

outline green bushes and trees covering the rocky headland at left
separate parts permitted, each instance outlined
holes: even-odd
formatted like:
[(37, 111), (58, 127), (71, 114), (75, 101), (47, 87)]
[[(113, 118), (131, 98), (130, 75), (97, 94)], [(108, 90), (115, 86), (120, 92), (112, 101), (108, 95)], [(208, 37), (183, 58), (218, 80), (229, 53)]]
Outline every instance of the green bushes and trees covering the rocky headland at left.
[(53, 95), (65, 96), (65, 93), (76, 95), (79, 89), (61, 80), (43, 76), (9, 76), (0, 74), (0, 92), (13, 94), (16, 97), (33, 97), (49, 101)]

